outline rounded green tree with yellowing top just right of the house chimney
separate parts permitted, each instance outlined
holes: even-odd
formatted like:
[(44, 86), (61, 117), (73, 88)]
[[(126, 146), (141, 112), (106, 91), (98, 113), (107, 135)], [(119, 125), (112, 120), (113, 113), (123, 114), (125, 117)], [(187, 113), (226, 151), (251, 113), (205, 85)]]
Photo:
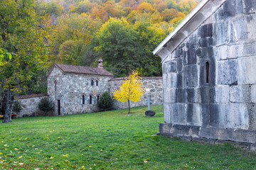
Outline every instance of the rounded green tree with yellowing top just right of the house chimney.
[(102, 52), (107, 69), (114, 74), (124, 76), (130, 69), (139, 67), (136, 34), (124, 18), (110, 18), (97, 33), (97, 51)]

